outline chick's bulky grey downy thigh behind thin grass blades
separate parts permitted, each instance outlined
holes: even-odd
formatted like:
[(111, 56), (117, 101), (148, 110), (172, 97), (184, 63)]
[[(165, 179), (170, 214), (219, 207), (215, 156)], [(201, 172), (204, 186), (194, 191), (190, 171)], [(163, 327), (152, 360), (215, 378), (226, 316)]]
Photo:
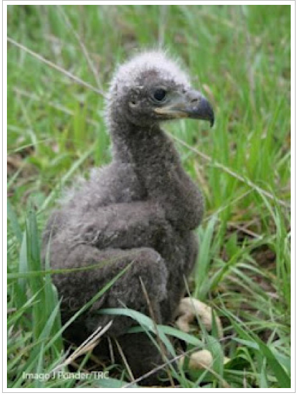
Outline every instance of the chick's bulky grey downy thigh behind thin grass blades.
[[(86, 244), (80, 244), (74, 249), (65, 245), (52, 244), (51, 262), (53, 269), (82, 268), (99, 264), (96, 269), (72, 271), (65, 274), (55, 274), (53, 282), (62, 296), (62, 317), (67, 321), (76, 311), (90, 301), (97, 292), (110, 283), (122, 270), (119, 279), (96, 301), (90, 310), (83, 314), (83, 324), (87, 333), (92, 333), (98, 326), (108, 323), (111, 316), (98, 314), (99, 308), (122, 308), (126, 306), (133, 310), (148, 314), (146, 296), (143, 293), (140, 278), (153, 301), (153, 314), (160, 322), (160, 303), (167, 296), (167, 267), (161, 256), (149, 248), (130, 250), (108, 249), (100, 251)], [(114, 319), (108, 335), (117, 336), (125, 333), (133, 325), (128, 317)], [(82, 328), (83, 330), (83, 328)]]

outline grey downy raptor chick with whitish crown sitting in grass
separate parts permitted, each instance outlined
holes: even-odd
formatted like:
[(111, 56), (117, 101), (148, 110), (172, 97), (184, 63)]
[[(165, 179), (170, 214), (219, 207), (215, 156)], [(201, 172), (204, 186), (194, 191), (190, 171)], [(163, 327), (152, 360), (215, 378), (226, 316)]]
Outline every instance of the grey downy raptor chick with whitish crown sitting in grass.
[[(125, 306), (157, 324), (173, 322), (196, 262), (195, 229), (204, 211), (201, 191), (162, 130), (164, 121), (183, 118), (212, 126), (214, 110), (166, 51), (141, 51), (116, 68), (105, 97), (112, 160), (67, 191), (42, 237), (42, 260), (49, 259), (52, 269), (81, 269), (52, 276), (64, 323), (123, 271), (67, 327), (70, 342), (83, 342), (110, 321), (110, 315), (98, 314), (102, 308)], [(117, 340), (116, 360), (124, 354), (139, 378), (163, 360), (146, 333), (128, 333), (135, 325), (131, 317), (114, 317), (94, 352), (108, 358), (105, 339)], [(141, 383), (159, 378), (151, 375)]]

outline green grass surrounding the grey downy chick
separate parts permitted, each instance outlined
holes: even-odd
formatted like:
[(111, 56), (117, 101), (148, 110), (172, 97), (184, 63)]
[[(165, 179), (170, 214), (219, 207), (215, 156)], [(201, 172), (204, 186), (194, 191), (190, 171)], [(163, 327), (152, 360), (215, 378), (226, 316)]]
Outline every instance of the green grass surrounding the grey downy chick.
[[(210, 350), (212, 372), (171, 371), (181, 387), (289, 387), (289, 6), (8, 6), (8, 36), (95, 91), (135, 48), (161, 44), (183, 60), (216, 114), (212, 130), (190, 120), (165, 126), (205, 196), (189, 293), (215, 308), (225, 338), (216, 328), (156, 329), (141, 315), (138, 330), (158, 330), (172, 358), (168, 335), (187, 351)], [(7, 118), (8, 387), (121, 386), (124, 368), (105, 380), (22, 378), (61, 361), (40, 233), (61, 190), (110, 160), (103, 97), (8, 43)]]

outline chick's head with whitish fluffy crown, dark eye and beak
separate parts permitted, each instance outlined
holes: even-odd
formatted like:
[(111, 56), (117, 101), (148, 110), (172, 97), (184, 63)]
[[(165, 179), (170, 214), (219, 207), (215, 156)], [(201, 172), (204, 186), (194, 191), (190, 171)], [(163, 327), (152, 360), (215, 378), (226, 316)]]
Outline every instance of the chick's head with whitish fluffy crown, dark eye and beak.
[(194, 90), (176, 62), (160, 51), (141, 53), (121, 65), (110, 85), (108, 119), (119, 117), (138, 126), (176, 118), (214, 124), (212, 106)]

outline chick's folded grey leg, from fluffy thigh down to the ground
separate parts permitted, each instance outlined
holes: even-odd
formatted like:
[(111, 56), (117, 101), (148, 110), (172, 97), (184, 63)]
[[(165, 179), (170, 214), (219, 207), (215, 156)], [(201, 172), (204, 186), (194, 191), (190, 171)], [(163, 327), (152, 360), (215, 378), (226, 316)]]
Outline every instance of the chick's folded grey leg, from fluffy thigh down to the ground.
[[(138, 378), (156, 366), (162, 364), (160, 350), (151, 342), (146, 333), (126, 334), (130, 326), (137, 322), (126, 316), (113, 317), (99, 314), (100, 308), (131, 308), (152, 316), (156, 323), (162, 323), (161, 304), (167, 298), (167, 267), (160, 255), (149, 248), (130, 250), (108, 249), (100, 251), (94, 246), (81, 244), (71, 251), (65, 245), (53, 242), (51, 262), (53, 269), (63, 267), (87, 267), (99, 264), (98, 269), (55, 274), (53, 282), (62, 296), (62, 321), (65, 323), (75, 312), (90, 301), (104, 285), (117, 274), (126, 269), (119, 279), (108, 289), (90, 310), (84, 312), (67, 328), (65, 337), (69, 342), (81, 344), (99, 326), (105, 326), (113, 319), (112, 326), (106, 333), (116, 337), (119, 347), (125, 355), (126, 362)], [(144, 288), (146, 294), (144, 294)], [(148, 304), (150, 305), (148, 307)], [(101, 360), (110, 360), (108, 339), (103, 338), (94, 349), (94, 354)], [(114, 345), (117, 363), (122, 363), (122, 355)], [(162, 373), (162, 372), (161, 372)], [(156, 384), (158, 374), (150, 376), (142, 384)]]

